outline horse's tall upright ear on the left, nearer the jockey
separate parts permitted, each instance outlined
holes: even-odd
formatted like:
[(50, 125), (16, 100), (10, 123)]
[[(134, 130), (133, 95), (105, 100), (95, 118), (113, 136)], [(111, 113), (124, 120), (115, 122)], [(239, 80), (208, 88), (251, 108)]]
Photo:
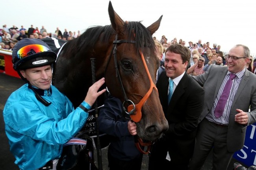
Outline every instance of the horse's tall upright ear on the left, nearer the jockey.
[(125, 30), (124, 24), (125, 23), (119, 17), (119, 15), (117, 15), (117, 13), (114, 11), (111, 1), (109, 1), (109, 5), (108, 5), (108, 14), (109, 14), (110, 22), (111, 22), (111, 25), (112, 25), (113, 29), (117, 33), (124, 32), (124, 30)]

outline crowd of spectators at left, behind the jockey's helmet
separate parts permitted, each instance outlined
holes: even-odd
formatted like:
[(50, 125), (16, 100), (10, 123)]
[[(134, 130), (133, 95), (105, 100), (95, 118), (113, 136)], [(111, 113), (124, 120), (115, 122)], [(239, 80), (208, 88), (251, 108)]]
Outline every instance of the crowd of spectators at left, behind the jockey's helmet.
[(30, 26), (30, 28), (26, 29), (24, 26), (21, 28), (17, 28), (13, 25), (13, 27), (8, 28), (6, 25), (3, 25), (2, 30), (0, 31), (0, 48), (5, 50), (12, 50), (13, 46), (24, 38), (31, 38), (31, 39), (44, 39), (47, 37), (54, 37), (58, 39), (63, 39), (66, 41), (75, 39), (80, 36), (80, 31), (76, 33), (76, 31), (65, 31), (62, 33), (59, 28), (56, 28), (54, 33), (48, 33), (46, 28), (42, 26), (39, 30), (38, 27)]

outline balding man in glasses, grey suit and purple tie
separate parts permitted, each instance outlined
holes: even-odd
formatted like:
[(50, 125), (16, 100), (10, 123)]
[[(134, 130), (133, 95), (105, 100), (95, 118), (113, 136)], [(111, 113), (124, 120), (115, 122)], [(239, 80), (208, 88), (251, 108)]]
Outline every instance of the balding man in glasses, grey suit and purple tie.
[(212, 149), (213, 170), (226, 170), (234, 152), (243, 148), (246, 127), (256, 120), (256, 75), (245, 67), (249, 56), (247, 46), (236, 45), (226, 55), (227, 67), (212, 65), (193, 76), (205, 95), (189, 170), (200, 170)]

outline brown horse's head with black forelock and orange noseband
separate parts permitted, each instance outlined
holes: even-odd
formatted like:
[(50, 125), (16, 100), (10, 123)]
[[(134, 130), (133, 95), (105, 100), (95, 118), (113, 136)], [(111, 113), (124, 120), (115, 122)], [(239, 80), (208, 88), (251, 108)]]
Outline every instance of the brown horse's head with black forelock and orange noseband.
[(152, 39), (162, 16), (145, 28), (140, 22), (124, 22), (113, 10), (111, 2), (108, 11), (117, 34), (112, 51), (109, 50), (109, 57), (106, 57), (106, 85), (113, 96), (124, 102), (127, 112), (137, 123), (138, 136), (155, 140), (168, 129), (155, 87), (160, 61)]

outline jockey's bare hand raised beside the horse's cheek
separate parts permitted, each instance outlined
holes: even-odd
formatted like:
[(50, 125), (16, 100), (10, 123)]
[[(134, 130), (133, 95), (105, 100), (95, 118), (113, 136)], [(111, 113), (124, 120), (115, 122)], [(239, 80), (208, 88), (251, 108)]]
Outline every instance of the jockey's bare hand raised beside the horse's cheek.
[(102, 93), (104, 93), (106, 91), (106, 89), (103, 89), (102, 91), (98, 90), (100, 89), (100, 87), (105, 83), (105, 78), (102, 78), (98, 81), (96, 81), (88, 90), (87, 95), (84, 99), (84, 101), (86, 103), (88, 103), (90, 106), (92, 106), (94, 104), (94, 102), (96, 101), (96, 99), (98, 98), (98, 96), (100, 96)]

